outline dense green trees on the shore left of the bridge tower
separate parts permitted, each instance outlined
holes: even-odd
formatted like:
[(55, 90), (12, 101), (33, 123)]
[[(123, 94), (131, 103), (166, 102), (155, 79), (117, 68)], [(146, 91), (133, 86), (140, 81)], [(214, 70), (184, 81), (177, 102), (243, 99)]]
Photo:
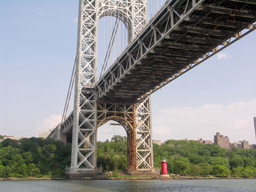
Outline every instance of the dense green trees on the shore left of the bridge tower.
[(53, 139), (5, 139), (0, 146), (0, 177), (63, 177), (71, 146)]

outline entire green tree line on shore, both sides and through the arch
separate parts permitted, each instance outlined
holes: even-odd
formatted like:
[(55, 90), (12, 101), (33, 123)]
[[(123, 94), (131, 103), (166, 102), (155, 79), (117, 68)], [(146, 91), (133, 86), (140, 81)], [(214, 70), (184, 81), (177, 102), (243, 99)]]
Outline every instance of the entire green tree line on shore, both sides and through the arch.
[[(0, 177), (64, 177), (71, 145), (32, 137), (0, 143)], [(256, 177), (256, 149), (225, 150), (218, 145), (168, 140), (154, 145), (154, 167), (167, 160), (170, 174)], [(127, 169), (127, 137), (97, 142), (97, 166), (106, 171)]]

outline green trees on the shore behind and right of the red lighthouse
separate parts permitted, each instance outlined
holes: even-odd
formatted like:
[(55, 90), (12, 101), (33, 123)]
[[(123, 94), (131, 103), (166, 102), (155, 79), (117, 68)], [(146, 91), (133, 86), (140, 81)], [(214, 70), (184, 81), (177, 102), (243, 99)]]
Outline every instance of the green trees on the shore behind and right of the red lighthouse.
[(174, 174), (227, 177), (232, 172), (239, 177), (256, 177), (256, 149), (225, 150), (218, 145), (168, 140), (161, 146), (154, 145), (155, 167), (161, 167), (162, 158)]

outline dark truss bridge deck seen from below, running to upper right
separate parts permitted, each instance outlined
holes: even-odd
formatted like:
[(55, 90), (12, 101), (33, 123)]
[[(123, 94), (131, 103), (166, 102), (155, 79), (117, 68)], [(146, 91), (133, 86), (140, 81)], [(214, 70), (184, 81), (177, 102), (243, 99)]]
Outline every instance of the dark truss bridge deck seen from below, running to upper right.
[(167, 1), (97, 82), (97, 100), (142, 101), (255, 30), (255, 21), (252, 0)]

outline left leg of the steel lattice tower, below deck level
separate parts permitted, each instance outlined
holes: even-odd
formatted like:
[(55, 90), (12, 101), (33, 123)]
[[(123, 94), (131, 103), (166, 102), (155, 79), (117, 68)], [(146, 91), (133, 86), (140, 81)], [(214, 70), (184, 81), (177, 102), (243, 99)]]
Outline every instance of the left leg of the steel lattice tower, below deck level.
[(97, 174), (97, 103), (94, 88), (83, 88), (79, 95), (78, 112), (74, 111), (72, 127), (70, 178)]

